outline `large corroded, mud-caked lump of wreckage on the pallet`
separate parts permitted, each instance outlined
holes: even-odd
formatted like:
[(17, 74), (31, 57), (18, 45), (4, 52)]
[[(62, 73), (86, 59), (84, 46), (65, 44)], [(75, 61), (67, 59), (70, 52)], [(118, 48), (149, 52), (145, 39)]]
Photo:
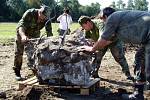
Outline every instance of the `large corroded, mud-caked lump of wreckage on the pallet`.
[(25, 46), (28, 65), (41, 84), (86, 85), (95, 69), (93, 54), (78, 50), (86, 43), (81, 33), (67, 35), (61, 48), (59, 37), (30, 40)]

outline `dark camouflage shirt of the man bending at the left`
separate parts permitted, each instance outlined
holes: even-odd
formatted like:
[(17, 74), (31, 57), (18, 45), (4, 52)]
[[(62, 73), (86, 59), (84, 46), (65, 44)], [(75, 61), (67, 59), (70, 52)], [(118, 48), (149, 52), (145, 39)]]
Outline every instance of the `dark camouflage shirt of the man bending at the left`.
[[(37, 38), (40, 36), (40, 30), (45, 26), (44, 22), (38, 22), (38, 10), (37, 9), (29, 9), (27, 10), (21, 20), (18, 22), (17, 30), (19, 27), (23, 27), (25, 29), (25, 34), (29, 38)], [(46, 32), (51, 32), (51, 21), (47, 23), (47, 26), (45, 26)]]

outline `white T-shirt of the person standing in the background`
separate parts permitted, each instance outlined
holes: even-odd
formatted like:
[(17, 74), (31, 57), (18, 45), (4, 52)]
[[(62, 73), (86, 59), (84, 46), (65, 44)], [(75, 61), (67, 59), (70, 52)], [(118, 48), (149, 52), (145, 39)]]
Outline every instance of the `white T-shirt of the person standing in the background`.
[(60, 15), (57, 18), (57, 21), (59, 21), (59, 28), (62, 30), (67, 30), (70, 28), (70, 24), (72, 23), (72, 17), (70, 15)]

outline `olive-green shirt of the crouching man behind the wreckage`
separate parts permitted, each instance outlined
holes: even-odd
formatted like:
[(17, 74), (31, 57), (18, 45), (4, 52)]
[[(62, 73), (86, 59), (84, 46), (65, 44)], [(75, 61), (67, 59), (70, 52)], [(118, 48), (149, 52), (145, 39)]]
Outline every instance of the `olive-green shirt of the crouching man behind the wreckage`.
[(100, 32), (104, 29), (104, 23), (99, 19), (92, 20), (92, 23), (93, 29), (90, 31), (85, 31), (85, 37), (97, 41), (100, 36)]

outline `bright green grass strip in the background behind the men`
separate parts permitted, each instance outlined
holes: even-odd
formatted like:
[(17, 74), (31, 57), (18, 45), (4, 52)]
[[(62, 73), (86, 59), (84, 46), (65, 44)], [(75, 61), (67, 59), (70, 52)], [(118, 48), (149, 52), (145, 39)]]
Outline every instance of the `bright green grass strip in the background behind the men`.
[[(52, 31), (55, 36), (58, 36), (58, 25), (59, 23), (52, 23)], [(0, 23), (0, 43), (9, 42), (14, 39), (16, 36), (16, 26), (17, 23)], [(77, 29), (79, 27), (78, 23), (73, 23), (71, 25), (71, 31)], [(45, 33), (45, 29), (41, 30), (41, 33)]]

